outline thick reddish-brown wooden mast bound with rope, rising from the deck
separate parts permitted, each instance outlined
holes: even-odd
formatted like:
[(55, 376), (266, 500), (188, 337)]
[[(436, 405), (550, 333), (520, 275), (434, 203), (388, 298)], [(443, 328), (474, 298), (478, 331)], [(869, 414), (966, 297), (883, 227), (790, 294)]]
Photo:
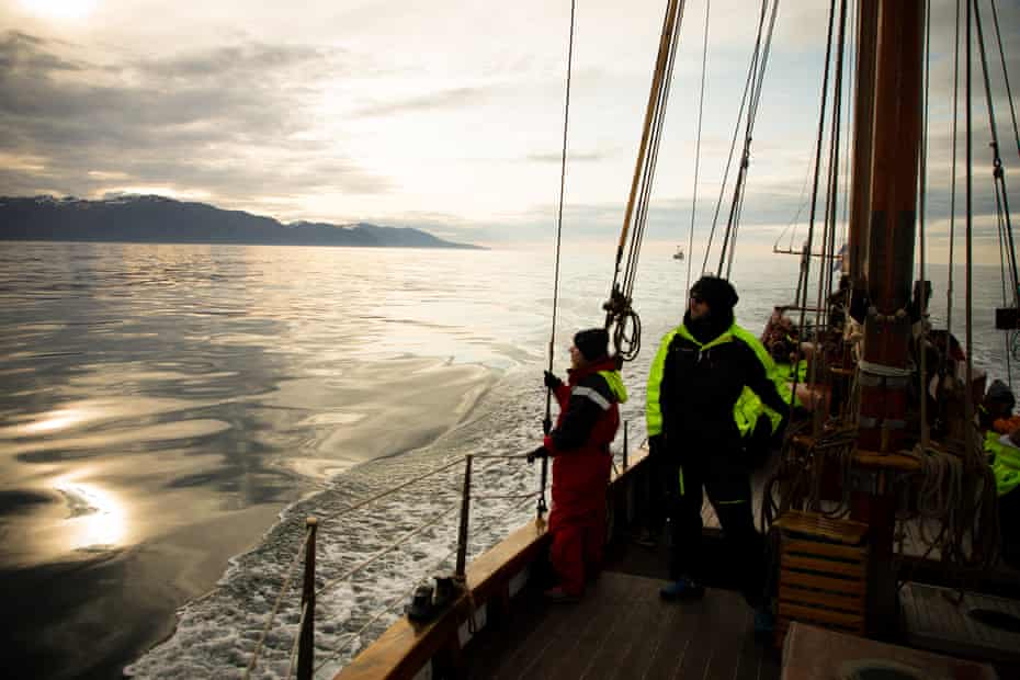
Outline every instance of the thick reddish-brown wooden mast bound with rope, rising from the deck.
[[(871, 111), (858, 110), (858, 116), (873, 116), (873, 148), (866, 196), (870, 216), (866, 268), (858, 270), (866, 273), (869, 309), (864, 320), (864, 353), (858, 364), (861, 403), (851, 518), (869, 525), (868, 628), (885, 635), (897, 619), (896, 575), (892, 568), (896, 498), (892, 480), (906, 463), (915, 463), (907, 458), (900, 465), (897, 461), (904, 456), (895, 453), (907, 440), (911, 375), (908, 304), (922, 135), (925, 3), (922, 0), (875, 2), (874, 41), (861, 39), (862, 50), (869, 43), (875, 49), (874, 106)], [(865, 30), (863, 22), (862, 30)], [(861, 61), (866, 63), (866, 58), (862, 56)], [(862, 133), (868, 126), (862, 124), (857, 129)], [(859, 262), (862, 236), (858, 228)], [(851, 242), (851, 253), (853, 248)]]

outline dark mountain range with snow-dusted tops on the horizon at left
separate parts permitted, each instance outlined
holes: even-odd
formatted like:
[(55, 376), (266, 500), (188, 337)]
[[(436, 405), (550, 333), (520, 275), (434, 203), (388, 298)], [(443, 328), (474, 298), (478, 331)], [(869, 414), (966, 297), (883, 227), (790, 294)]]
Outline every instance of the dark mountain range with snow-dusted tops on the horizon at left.
[(420, 229), (296, 222), (152, 195), (0, 196), (0, 240), (467, 248)]

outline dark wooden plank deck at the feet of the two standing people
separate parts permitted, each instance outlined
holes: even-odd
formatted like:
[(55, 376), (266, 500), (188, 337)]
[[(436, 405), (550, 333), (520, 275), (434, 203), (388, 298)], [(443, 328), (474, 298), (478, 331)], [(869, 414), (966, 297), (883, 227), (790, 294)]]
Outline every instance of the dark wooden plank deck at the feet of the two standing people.
[(751, 611), (729, 590), (670, 604), (662, 580), (605, 571), (577, 603), (529, 588), (502, 626), (466, 650), (468, 678), (772, 680), (779, 656), (756, 641)]

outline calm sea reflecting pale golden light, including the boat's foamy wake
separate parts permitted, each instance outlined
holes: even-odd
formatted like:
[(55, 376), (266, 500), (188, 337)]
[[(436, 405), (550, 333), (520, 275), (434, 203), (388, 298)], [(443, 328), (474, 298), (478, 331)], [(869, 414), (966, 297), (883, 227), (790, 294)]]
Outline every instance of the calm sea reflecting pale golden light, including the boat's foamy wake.
[[(671, 252), (644, 252), (637, 270), (617, 464), (645, 439), (648, 365), (687, 304), (688, 262)], [(539, 466), (522, 455), (542, 439), (543, 370), (552, 359), (564, 374), (574, 332), (602, 325), (613, 256), (565, 245), (557, 279), (552, 242), (4, 242), (5, 668), (286, 678), (315, 517), (315, 667), (332, 677), (452, 568), (467, 454), (469, 555), (534, 518)], [(760, 332), (792, 302), (796, 267), (738, 259), (738, 322)], [(948, 268), (928, 277), (939, 326)], [(978, 267), (974, 281), (975, 364), (1008, 379), (1000, 273)]]

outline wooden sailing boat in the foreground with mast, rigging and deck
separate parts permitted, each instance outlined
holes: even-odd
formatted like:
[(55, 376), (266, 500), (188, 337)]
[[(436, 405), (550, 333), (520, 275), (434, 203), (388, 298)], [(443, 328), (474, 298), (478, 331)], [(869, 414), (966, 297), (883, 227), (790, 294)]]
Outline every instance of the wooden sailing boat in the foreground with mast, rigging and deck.
[[(842, 2), (838, 23), (840, 37), (846, 26), (846, 9), (847, 2)], [(641, 206), (634, 209), (636, 196), (648, 193), (637, 191), (638, 177), (649, 177), (644, 171), (646, 162), (657, 155), (656, 149), (646, 147), (646, 140), (650, 138), (655, 144), (658, 138), (657, 134), (648, 134), (648, 127), (660, 117), (665, 101), (661, 88), (668, 80), (667, 65), (671, 64), (671, 45), (679, 27), (680, 10), (677, 0), (671, 0), (649, 95), (646, 134), (638, 152), (624, 235), (617, 248), (617, 274), (628, 231), (639, 239), (643, 230), (641, 218), (634, 223), (633, 230), (631, 220), (633, 215), (646, 213)], [(830, 38), (836, 13), (834, 2)], [(968, 19), (970, 13), (968, 5)], [(772, 575), (779, 580), (779, 614), (786, 626), (785, 631), (780, 631), (785, 633), (782, 662), (792, 669), (790, 677), (865, 677), (870, 670), (880, 675), (903, 671), (899, 675), (904, 677), (920, 677), (921, 670), (932, 677), (995, 677), (986, 665), (894, 647), (864, 637), (887, 636), (887, 624), (898, 619), (897, 586), (903, 575), (897, 574), (895, 567), (903, 555), (896, 553), (894, 543), (897, 491), (928, 478), (931, 466), (944, 462), (945, 469), (955, 471), (948, 473), (953, 475), (953, 484), (959, 481), (966, 489), (954, 497), (953, 505), (944, 508), (954, 517), (948, 532), (953, 534), (952, 540), (944, 544), (949, 552), (943, 552), (943, 559), (962, 557), (965, 564), (961, 568), (970, 568), (966, 575), (974, 579), (973, 583), (981, 583), (988, 576), (995, 552), (994, 547), (990, 553), (984, 549), (987, 547), (986, 532), (989, 525), (995, 525), (994, 514), (986, 512), (995, 508), (994, 498), (989, 502), (987, 496), (987, 466), (983, 460), (975, 458), (970, 445), (975, 384), (970, 361), (965, 362), (964, 370), (954, 372), (963, 379), (954, 385), (955, 390), (948, 397), (956, 399), (953, 403), (960, 407), (956, 412), (963, 412), (963, 418), (956, 419), (955, 429), (950, 428), (950, 433), (959, 435), (962, 442), (962, 453), (951, 450), (952, 437), (941, 443), (931, 438), (926, 426), (927, 415), (920, 418), (919, 433), (910, 424), (916, 422), (910, 397), (916, 378), (911, 315), (919, 313), (923, 318), (927, 305), (922, 285), (916, 296), (919, 306), (911, 306), (910, 280), (921, 174), (925, 20), (921, 2), (860, 2), (848, 248), (850, 286), (845, 294), (865, 303), (862, 329), (857, 338), (852, 338), (852, 333), (839, 338), (826, 336), (821, 332), (825, 327), (816, 336), (819, 351), (814, 353), (814, 359), (823, 367), (826, 364), (820, 360), (827, 344), (847, 349), (843, 338), (852, 338), (854, 352), (837, 352), (839, 361), (828, 363), (828, 371), (815, 371), (812, 386), (827, 398), (815, 410), (813, 421), (805, 423), (800, 437), (787, 439), (780, 471), (797, 468), (806, 473), (813, 484), (821, 487), (828, 481), (831, 486), (834, 480), (827, 479), (827, 471), (830, 462), (838, 461), (847, 475), (835, 480), (836, 487), (849, 506), (850, 519), (827, 512), (825, 492), (804, 498), (802, 488), (802, 497), (797, 498), (791, 489), (795, 491), (804, 476), (775, 477), (779, 487), (786, 486), (779, 489), (783, 514), (775, 519), (775, 524), (783, 526), (786, 518), (783, 531), (790, 530), (781, 531), (782, 559), (775, 568), (778, 574)], [(967, 23), (970, 26), (970, 21)], [(840, 67), (836, 70), (841, 72)], [(838, 86), (836, 89), (838, 91)], [(834, 110), (838, 112), (839, 105), (834, 105)], [(825, 117), (825, 105), (819, 117)], [(834, 115), (836, 118), (838, 116)], [(820, 135), (819, 128), (819, 155)], [(836, 144), (834, 147), (838, 149)], [(837, 161), (838, 156), (830, 166), (837, 168)], [(741, 173), (745, 169), (746, 166), (741, 167)], [(830, 178), (829, 186), (835, 191), (837, 185)], [(739, 186), (738, 183), (738, 195)], [(738, 195), (735, 206), (739, 204)], [(828, 205), (835, 212), (835, 201)], [(970, 193), (967, 206), (970, 208)], [(970, 209), (967, 213), (970, 231)], [(739, 214), (739, 209), (735, 208), (733, 214)], [(728, 226), (736, 231), (734, 220)], [(829, 237), (835, 220), (828, 226), (821, 238), (821, 257), (835, 249), (836, 239)], [(1009, 238), (1011, 241), (1011, 234)], [(811, 267), (813, 245), (809, 236), (802, 260), (805, 268)], [(732, 250), (729, 254), (732, 260)], [(721, 272), (724, 260), (719, 260)], [(831, 275), (831, 268), (820, 269), (823, 274)], [(802, 270), (803, 285), (798, 286), (797, 294), (802, 310), (808, 306), (807, 281), (808, 272)], [(632, 286), (633, 271), (628, 267), (621, 284), (614, 279), (612, 298), (605, 307), (608, 322), (624, 325), (626, 319), (633, 318), (628, 316), (633, 314), (630, 309)], [(824, 291), (823, 287), (819, 297)], [(845, 303), (847, 310), (854, 314), (854, 305), (846, 298)], [(827, 301), (821, 301), (817, 314), (823, 319), (831, 317), (829, 309), (823, 306), (827, 306)], [(616, 337), (621, 335), (627, 333)], [(970, 351), (970, 332), (967, 335)], [(630, 350), (623, 352), (624, 355), (632, 353)], [(921, 371), (923, 374), (925, 369)], [(922, 389), (920, 394), (926, 392)], [(920, 399), (921, 409), (926, 404), (927, 399)], [(830, 415), (835, 418), (827, 423)], [(917, 455), (909, 449), (915, 445), (920, 446)], [(628, 508), (634, 507), (649, 474), (644, 453), (638, 452), (630, 464), (625, 463), (623, 469), (617, 471), (609, 491), (608, 502), (615, 509), (620, 524), (628, 519)], [(932, 487), (933, 492), (941, 492), (945, 484), (950, 484), (948, 477), (941, 478)], [(772, 500), (771, 494), (767, 500)], [(655, 594), (659, 582), (635, 576), (641, 570), (633, 562), (620, 571), (604, 573), (591, 597), (577, 607), (549, 611), (529, 599), (523, 585), (530, 574), (541, 568), (546, 541), (543, 524), (520, 528), (468, 566), (465, 597), (428, 624), (398, 621), (338, 678), (411, 677), (422, 670), (443, 677), (512, 673), (515, 677), (733, 678), (739, 675), (738, 670), (759, 678), (779, 677), (774, 657), (748, 642), (747, 611), (735, 598), (728, 597), (726, 591), (710, 591), (698, 604), (664, 608)], [(915, 568), (917, 576), (926, 569), (929, 575), (934, 574), (923, 559), (915, 563)], [(942, 585), (945, 585), (944, 579)], [(522, 594), (514, 598), (518, 593)], [(524, 600), (523, 607), (511, 611), (513, 599)], [(937, 599), (943, 604), (951, 601), (941, 596)], [(1006, 615), (1001, 610), (999, 614)], [(497, 635), (485, 637), (485, 631), (477, 633), (483, 625), (491, 630), (500, 624), (503, 627)], [(977, 624), (971, 621), (967, 625)], [(847, 635), (849, 631), (858, 635)], [(558, 644), (563, 641), (568, 644)], [(1015, 644), (1012, 656), (1006, 653), (1010, 664), (1017, 661), (1017, 648)], [(971, 653), (974, 654), (973, 648)], [(805, 657), (809, 662), (804, 661)], [(883, 659), (888, 660), (884, 666)], [(1016, 666), (1006, 668), (1016, 670)]]

